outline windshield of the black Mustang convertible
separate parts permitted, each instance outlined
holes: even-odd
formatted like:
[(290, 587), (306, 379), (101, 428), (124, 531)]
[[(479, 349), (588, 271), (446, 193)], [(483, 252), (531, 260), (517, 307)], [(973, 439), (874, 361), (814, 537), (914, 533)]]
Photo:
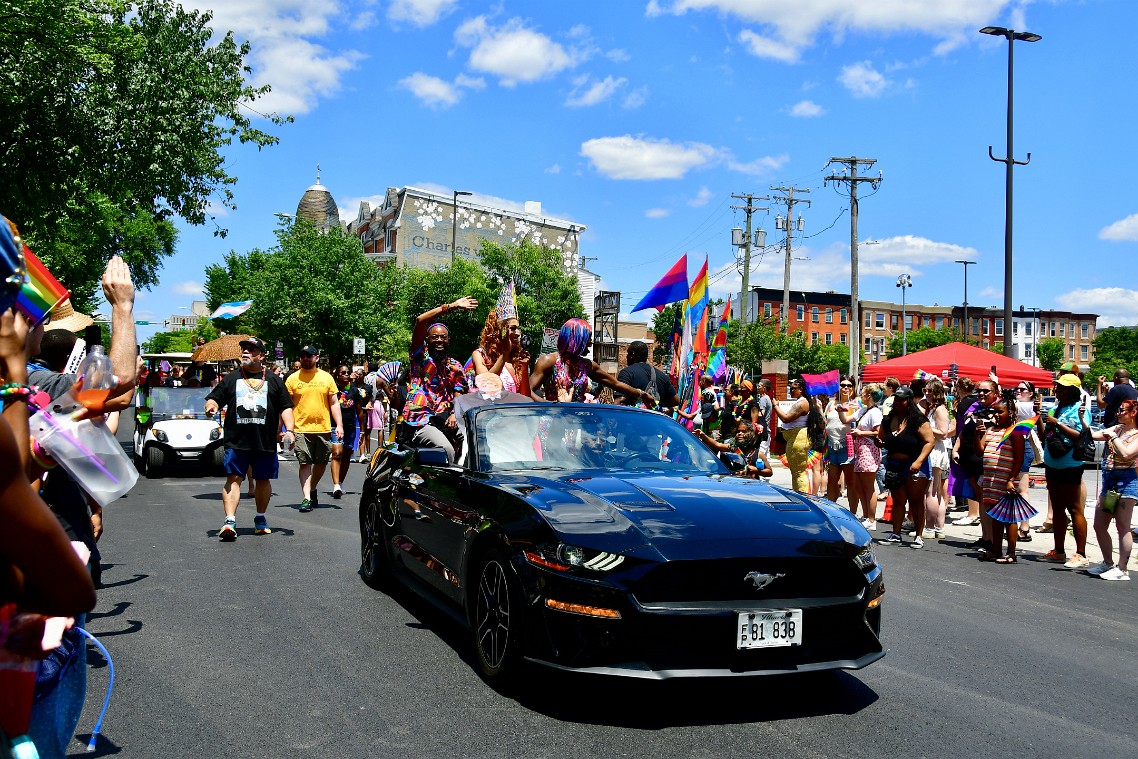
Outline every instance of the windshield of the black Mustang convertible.
[(716, 455), (670, 418), (601, 404), (484, 406), (475, 413), (483, 472), (663, 470), (727, 473)]

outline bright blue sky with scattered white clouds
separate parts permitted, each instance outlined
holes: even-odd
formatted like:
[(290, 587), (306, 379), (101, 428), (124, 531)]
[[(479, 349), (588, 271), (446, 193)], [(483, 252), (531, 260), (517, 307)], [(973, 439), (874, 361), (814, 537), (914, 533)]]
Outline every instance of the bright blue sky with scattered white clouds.
[[(209, 2), (187, 2), (207, 8)], [(860, 295), (1003, 305), (1007, 42), (1015, 47), (1014, 304), (1138, 323), (1133, 0), (226, 0), (215, 28), (253, 44), (253, 105), (295, 116), (279, 146), (234, 148), (226, 239), (183, 226), (140, 319), (200, 297), (204, 267), (273, 244), (316, 165), (341, 214), (415, 185), (585, 224), (582, 255), (629, 308), (683, 253), (714, 295), (740, 287), (731, 195), (808, 189), (791, 287), (849, 291), (848, 199), (833, 156), (876, 158), (861, 187)], [(840, 168), (840, 167), (839, 167)], [(767, 242), (778, 206), (756, 222)], [(785, 213), (783, 209), (782, 213)], [(783, 253), (752, 262), (781, 288)], [(736, 296), (737, 297), (737, 296)], [(184, 313), (184, 312), (183, 312)], [(644, 316), (644, 312), (640, 314)], [(154, 329), (140, 328), (146, 337)]]

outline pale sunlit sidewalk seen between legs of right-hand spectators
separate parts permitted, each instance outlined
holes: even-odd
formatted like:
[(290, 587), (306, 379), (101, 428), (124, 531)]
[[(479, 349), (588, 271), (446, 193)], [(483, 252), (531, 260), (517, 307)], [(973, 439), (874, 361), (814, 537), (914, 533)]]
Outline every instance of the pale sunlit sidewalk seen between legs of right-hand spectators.
[[(791, 487), (790, 470), (786, 469), (778, 461), (778, 459), (773, 459), (770, 465), (774, 470), (774, 476), (770, 478), (770, 482), (774, 485), (778, 485), (781, 487), (790, 488)], [(1042, 476), (1044, 470), (1033, 468), (1031, 470), (1031, 473), (1032, 476), (1036, 475)], [(1098, 539), (1095, 537), (1095, 529), (1094, 529), (1095, 503), (1098, 501), (1098, 488), (1100, 480), (1102, 480), (1102, 472), (1097, 470), (1088, 470), (1083, 472), (1082, 481), (1083, 485), (1087, 486), (1087, 503), (1083, 510), (1083, 514), (1087, 518), (1087, 559), (1090, 560), (1091, 564), (1096, 564), (1103, 560), (1103, 552), (1098, 547)], [(1034, 528), (1038, 527), (1039, 525), (1042, 525), (1044, 519), (1047, 517), (1047, 487), (1042, 482), (1040, 482), (1034, 487), (1028, 488), (1028, 501), (1031, 502), (1031, 505), (1036, 508), (1039, 514), (1031, 520), (1031, 527), (1032, 527), (1031, 542), (1030, 543), (1020, 542), (1015, 546), (1015, 552), (1021, 558), (1026, 556), (1029, 559), (1032, 559), (1034, 556), (1040, 556), (1050, 551), (1052, 548), (1054, 548), (1055, 536), (1050, 534), (1040, 534), (1034, 531)], [(849, 504), (846, 502), (844, 496), (839, 496), (838, 503), (839, 505), (849, 508)], [(951, 506), (953, 504), (949, 503), (949, 505)], [(885, 508), (885, 502), (880, 501), (877, 503), (877, 530), (873, 534), (874, 539), (884, 539), (891, 531), (891, 527), (885, 522), (881, 521), (881, 514), (884, 508)], [(964, 514), (965, 512), (963, 511), (948, 512), (948, 515), (945, 519), (945, 539), (964, 541), (966, 543), (972, 543), (973, 541), (980, 538), (979, 525), (976, 525), (975, 527), (957, 527), (956, 525), (951, 523), (954, 519), (963, 517)], [(907, 535), (904, 537), (907, 545), (912, 541), (912, 538), (908, 537)], [(1111, 537), (1113, 538), (1114, 542), (1114, 560), (1118, 561), (1119, 538), (1118, 538), (1118, 533), (1115, 533), (1114, 530), (1114, 525), (1111, 525)], [(1074, 553), (1074, 536), (1071, 535), (1070, 526), (1067, 526), (1067, 536), (1066, 541), (1064, 542), (1064, 550), (1066, 551), (1066, 554), (1069, 556), (1072, 553)], [(1135, 564), (1133, 562), (1136, 556), (1131, 555), (1131, 562), (1130, 562), (1131, 566)]]

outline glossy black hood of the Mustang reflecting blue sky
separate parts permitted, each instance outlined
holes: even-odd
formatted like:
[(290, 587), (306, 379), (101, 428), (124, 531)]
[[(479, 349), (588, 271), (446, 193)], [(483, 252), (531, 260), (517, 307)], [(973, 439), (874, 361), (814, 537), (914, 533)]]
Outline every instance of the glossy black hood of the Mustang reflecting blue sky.
[[(780, 544), (863, 544), (868, 534), (848, 511), (758, 480), (605, 475), (538, 480), (518, 489), (567, 542), (627, 552), (653, 546), (667, 559), (765, 553)], [(757, 543), (765, 544), (764, 546)]]

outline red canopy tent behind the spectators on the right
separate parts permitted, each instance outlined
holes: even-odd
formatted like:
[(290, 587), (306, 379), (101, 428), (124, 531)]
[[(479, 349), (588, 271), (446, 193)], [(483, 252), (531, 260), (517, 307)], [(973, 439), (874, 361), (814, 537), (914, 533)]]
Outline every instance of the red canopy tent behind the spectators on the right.
[(902, 383), (908, 383), (918, 369), (940, 378), (948, 378), (953, 364), (956, 365), (957, 377), (967, 377), (975, 381), (986, 379), (995, 365), (996, 376), (1004, 387), (1011, 387), (1014, 382), (1023, 380), (1039, 388), (1052, 387), (1054, 383), (1052, 373), (1046, 369), (1037, 369), (1022, 361), (964, 343), (949, 343), (899, 358), (866, 364), (861, 371), (861, 381), (882, 382), (887, 377), (896, 377)]

